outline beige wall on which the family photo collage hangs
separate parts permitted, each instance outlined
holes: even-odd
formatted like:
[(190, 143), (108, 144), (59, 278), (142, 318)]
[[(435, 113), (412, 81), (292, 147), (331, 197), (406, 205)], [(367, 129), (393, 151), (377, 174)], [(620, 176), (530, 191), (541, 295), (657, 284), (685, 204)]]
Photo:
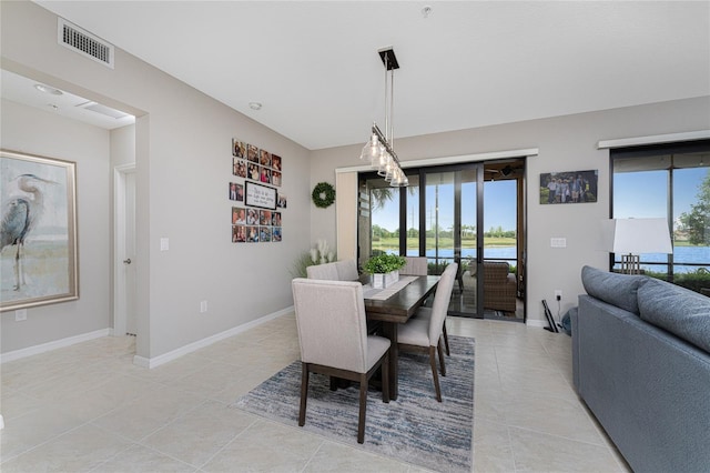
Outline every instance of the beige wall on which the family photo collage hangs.
[[(112, 70), (57, 44), (57, 17), (34, 3), (0, 8), (3, 68), (138, 117), (136, 354), (152, 360), (292, 305), (290, 269), (311, 240), (308, 151), (120, 49)], [(282, 243), (231, 242), (233, 137), (283, 158)]]

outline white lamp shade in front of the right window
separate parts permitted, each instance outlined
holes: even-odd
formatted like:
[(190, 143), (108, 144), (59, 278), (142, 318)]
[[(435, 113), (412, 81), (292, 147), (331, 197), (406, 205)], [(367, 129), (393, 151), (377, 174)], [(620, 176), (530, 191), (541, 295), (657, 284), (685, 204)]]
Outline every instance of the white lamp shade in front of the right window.
[(601, 224), (607, 251), (619, 254), (672, 253), (668, 220), (611, 219)]

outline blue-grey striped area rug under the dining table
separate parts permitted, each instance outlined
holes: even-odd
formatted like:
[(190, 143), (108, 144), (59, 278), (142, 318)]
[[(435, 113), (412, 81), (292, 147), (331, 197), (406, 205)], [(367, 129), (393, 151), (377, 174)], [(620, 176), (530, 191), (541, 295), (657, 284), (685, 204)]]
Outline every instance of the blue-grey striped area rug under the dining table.
[[(302, 429), (357, 449), (440, 472), (470, 472), (474, 426), (474, 339), (449, 335), (446, 376), (437, 402), (428, 356), (399, 358), (399, 397), (382, 402), (367, 393), (365, 443), (357, 443), (358, 386), (329, 390), (328, 378), (311, 375)], [(240, 397), (233, 406), (287, 425), (298, 425), (301, 362), (296, 361)]]

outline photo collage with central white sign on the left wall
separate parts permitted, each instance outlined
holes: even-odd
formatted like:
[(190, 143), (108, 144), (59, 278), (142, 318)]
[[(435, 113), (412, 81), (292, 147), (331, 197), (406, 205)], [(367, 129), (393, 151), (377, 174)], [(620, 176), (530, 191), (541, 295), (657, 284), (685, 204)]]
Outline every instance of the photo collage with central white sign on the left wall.
[(286, 195), (278, 189), (283, 182), (282, 158), (232, 139), (232, 242), (282, 241), (283, 210), (287, 205)]

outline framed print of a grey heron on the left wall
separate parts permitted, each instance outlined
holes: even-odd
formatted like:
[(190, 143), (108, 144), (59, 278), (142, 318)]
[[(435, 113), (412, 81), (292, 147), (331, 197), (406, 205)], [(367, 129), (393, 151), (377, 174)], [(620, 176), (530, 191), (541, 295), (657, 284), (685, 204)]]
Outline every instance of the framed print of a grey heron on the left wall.
[(0, 150), (0, 311), (79, 299), (77, 163)]

